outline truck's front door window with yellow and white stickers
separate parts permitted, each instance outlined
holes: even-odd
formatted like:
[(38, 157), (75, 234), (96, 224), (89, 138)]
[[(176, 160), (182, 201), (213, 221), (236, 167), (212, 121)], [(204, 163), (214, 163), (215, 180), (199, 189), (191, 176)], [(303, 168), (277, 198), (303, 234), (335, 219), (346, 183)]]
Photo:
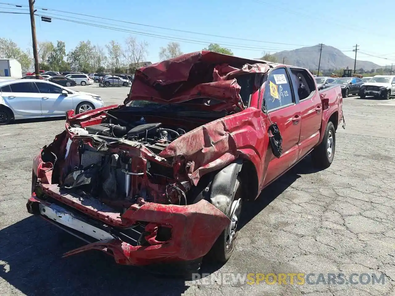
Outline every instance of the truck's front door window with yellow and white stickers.
[(274, 69), (270, 72), (263, 99), (267, 111), (293, 103), (290, 79), (285, 68)]

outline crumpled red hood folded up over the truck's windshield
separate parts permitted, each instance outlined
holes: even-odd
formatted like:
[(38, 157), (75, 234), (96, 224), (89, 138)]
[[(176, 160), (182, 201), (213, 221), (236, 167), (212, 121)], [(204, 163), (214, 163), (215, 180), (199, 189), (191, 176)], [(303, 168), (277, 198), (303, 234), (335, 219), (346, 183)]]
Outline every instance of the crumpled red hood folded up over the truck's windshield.
[[(211, 51), (183, 54), (136, 71), (124, 104), (143, 100), (182, 103), (196, 98), (214, 98), (216, 110), (243, 107), (235, 77), (243, 73), (267, 73), (271, 64)], [(215, 107), (214, 107), (215, 106)]]

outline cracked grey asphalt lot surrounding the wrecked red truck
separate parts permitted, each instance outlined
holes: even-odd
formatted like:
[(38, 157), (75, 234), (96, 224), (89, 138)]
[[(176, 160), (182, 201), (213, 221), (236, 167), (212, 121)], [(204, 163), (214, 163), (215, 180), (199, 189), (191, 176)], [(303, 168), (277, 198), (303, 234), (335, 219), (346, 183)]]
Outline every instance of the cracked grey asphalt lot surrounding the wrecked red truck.
[[(78, 86), (121, 103), (127, 88)], [(62, 259), (83, 243), (26, 212), (32, 157), (64, 120), (0, 127), (0, 294), (19, 295), (395, 295), (394, 100), (344, 99), (346, 129), (337, 132), (333, 165), (311, 169), (307, 157), (245, 204), (235, 253), (220, 273), (384, 273), (372, 285), (259, 285), (184, 281), (117, 266), (91, 251)]]

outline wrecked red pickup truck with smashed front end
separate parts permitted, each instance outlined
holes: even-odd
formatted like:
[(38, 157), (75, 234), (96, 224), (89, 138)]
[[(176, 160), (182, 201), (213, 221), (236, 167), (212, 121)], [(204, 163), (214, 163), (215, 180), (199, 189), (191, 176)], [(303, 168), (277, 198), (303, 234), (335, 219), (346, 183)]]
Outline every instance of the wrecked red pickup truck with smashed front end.
[[(119, 264), (226, 262), (243, 200), (335, 154), (340, 86), (201, 51), (140, 68), (123, 105), (74, 114), (34, 159), (28, 212)], [(192, 264), (192, 265), (191, 265)]]

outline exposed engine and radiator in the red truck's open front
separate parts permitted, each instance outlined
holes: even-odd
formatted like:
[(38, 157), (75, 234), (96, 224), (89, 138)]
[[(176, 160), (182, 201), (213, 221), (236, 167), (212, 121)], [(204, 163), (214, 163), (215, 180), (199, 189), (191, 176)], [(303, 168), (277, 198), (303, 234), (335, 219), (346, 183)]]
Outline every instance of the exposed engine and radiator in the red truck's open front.
[[(143, 118), (132, 126), (102, 123), (85, 128), (71, 127), (79, 136), (96, 135), (103, 142), (123, 140), (139, 142), (159, 154), (171, 141), (186, 131), (162, 127), (161, 123), (146, 123)], [(69, 148), (70, 149), (70, 146)], [(62, 187), (79, 195), (90, 195), (120, 212), (137, 199), (163, 204), (187, 204), (186, 188), (174, 180), (173, 168), (132, 157), (126, 151), (92, 147), (80, 142), (79, 166), (65, 172)]]

